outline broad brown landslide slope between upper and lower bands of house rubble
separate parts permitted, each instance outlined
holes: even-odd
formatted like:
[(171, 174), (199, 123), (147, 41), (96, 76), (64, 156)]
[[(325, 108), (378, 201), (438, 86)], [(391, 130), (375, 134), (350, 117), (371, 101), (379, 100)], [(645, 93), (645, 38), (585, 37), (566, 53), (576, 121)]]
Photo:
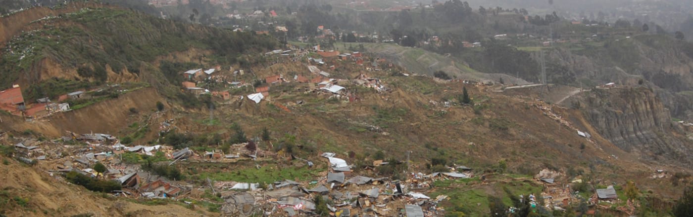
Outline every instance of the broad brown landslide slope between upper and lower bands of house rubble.
[[(293, 64), (277, 67), (295, 68)], [(270, 70), (256, 73), (258, 77), (272, 74)], [(473, 85), (466, 88), (476, 106), (445, 107), (445, 100), (457, 102), (455, 98), (462, 94), (464, 84), (440, 84), (430, 77), (392, 77), (390, 73), (369, 73), (392, 87), (390, 93), (344, 84), (348, 90), (356, 90), (361, 99), (357, 102), (306, 94), (299, 91), (300, 84), (286, 83), (272, 86), (269, 97), (260, 104), (231, 100), (218, 106), (214, 122), (209, 121), (209, 113), (180, 113), (177, 123), (187, 119), (179, 128), (195, 135), (222, 133), (222, 138), (232, 136), (228, 130), (231, 122), (243, 126), (249, 137), (260, 135), (267, 127), (274, 139), (259, 147), (277, 149), (292, 140), (297, 145), (295, 154), (301, 158), (319, 158), (322, 151), (344, 155), (355, 151), (360, 156), (353, 159), (356, 164), (369, 164), (378, 150), (396, 160), (405, 160), (406, 153), (412, 151), (410, 158), (416, 171), (426, 171), (424, 165), (431, 158), (444, 158), (480, 171), (499, 169), (498, 162), (503, 160), (507, 162), (505, 171), (511, 173), (534, 175), (546, 167), (583, 169), (610, 181), (638, 180), (644, 189), (658, 187), (658, 194), (674, 196), (671, 188), (649, 179), (649, 173), (653, 167), (672, 171), (683, 168), (668, 162), (639, 160), (602, 138), (580, 112), (538, 102), (535, 97), (500, 95), (493, 93), (495, 87)], [(355, 75), (341, 70), (333, 76)], [(303, 103), (297, 104), (299, 101)], [(577, 130), (593, 138), (582, 138)]]

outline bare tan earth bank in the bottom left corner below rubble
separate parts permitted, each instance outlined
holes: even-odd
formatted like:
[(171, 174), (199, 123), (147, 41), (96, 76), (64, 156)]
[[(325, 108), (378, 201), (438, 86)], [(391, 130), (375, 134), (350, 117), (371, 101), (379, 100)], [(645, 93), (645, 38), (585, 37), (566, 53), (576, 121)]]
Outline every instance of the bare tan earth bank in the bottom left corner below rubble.
[(58, 173), (46, 173), (55, 165), (38, 162), (34, 167), (0, 156), (0, 211), (6, 216), (205, 216), (201, 209), (182, 205), (141, 205), (99, 196), (78, 185), (69, 184)]

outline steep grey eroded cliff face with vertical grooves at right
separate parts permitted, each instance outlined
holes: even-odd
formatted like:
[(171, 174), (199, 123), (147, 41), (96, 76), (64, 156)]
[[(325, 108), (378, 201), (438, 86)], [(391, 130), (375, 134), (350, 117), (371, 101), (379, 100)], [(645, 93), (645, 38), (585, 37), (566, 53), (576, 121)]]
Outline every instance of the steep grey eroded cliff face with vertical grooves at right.
[(693, 162), (691, 142), (674, 131), (669, 109), (649, 88), (598, 88), (582, 103), (590, 124), (620, 149), (643, 158)]

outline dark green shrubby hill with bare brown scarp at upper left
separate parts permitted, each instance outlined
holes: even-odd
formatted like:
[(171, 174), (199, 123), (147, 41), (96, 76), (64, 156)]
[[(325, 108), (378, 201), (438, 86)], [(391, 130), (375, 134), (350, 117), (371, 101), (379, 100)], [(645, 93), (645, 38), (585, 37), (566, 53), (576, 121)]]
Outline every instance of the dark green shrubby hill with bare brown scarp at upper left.
[(14, 82), (37, 84), (58, 77), (96, 82), (144, 81), (158, 88), (166, 79), (156, 66), (157, 57), (198, 48), (211, 54), (196, 57), (197, 62), (236, 64), (240, 55), (277, 46), (276, 39), (250, 32), (180, 23), (132, 10), (75, 7), (79, 10), (73, 13), (44, 17), (29, 25), (17, 23), (26, 25), (21, 28), (25, 31), (12, 37), (3, 49), (0, 68), (6, 74), (0, 86)]

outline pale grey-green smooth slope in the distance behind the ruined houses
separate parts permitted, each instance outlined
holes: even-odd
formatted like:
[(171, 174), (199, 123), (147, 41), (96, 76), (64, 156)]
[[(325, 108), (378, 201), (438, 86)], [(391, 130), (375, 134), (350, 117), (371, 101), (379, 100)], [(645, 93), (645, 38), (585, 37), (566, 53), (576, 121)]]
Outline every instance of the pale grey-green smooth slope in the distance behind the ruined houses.
[[(349, 46), (359, 46), (358, 43), (346, 44)], [(367, 52), (376, 57), (385, 57), (390, 62), (406, 68), (408, 71), (421, 75), (433, 76), (433, 73), (441, 70), (457, 79), (476, 79), (498, 81), (501, 77), (515, 84), (529, 84), (523, 79), (517, 79), (504, 74), (480, 73), (473, 68), (469, 68), (465, 62), (455, 59), (455, 57), (432, 53), (421, 48), (410, 48), (397, 44), (363, 44)], [(337, 46), (339, 47), (339, 46)]]

